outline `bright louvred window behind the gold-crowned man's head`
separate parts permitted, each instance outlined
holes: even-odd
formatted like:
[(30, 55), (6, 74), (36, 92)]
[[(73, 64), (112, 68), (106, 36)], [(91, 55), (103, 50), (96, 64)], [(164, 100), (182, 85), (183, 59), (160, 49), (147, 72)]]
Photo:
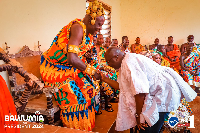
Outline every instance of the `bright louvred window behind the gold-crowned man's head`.
[[(92, 2), (92, 1), (94, 1), (94, 0), (86, 0), (86, 9), (89, 6), (89, 3)], [(99, 1), (99, 2), (101, 2), (101, 1)], [(100, 32), (101, 32), (101, 34), (103, 35), (104, 38), (106, 38), (106, 37), (111, 38), (111, 7), (109, 7), (105, 3), (102, 3), (102, 6), (103, 6), (104, 11), (105, 11), (105, 15), (104, 15), (105, 22), (102, 25), (102, 30)]]

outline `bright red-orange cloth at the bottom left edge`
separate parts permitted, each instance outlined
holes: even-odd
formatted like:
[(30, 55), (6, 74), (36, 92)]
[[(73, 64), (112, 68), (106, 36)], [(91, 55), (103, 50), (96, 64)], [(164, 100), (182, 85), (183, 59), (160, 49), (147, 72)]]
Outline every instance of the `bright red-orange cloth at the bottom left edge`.
[(0, 131), (1, 133), (20, 133), (20, 129), (17, 128), (18, 121), (5, 121), (5, 115), (10, 116), (10, 114), (17, 116), (16, 108), (6, 82), (0, 75)]

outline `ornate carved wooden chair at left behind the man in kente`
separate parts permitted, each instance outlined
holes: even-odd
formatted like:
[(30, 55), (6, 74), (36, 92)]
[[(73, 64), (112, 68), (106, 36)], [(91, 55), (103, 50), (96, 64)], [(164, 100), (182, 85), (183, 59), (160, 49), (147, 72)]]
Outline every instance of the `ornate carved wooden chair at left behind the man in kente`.
[[(0, 72), (8, 71), (18, 114), (39, 111), (46, 116), (49, 124), (57, 125), (60, 121), (54, 123), (54, 114), (59, 111), (59, 107), (52, 97), (52, 93), (57, 90), (44, 88), (39, 69), (41, 53), (30, 50), (28, 46), (23, 46), (16, 54), (8, 54), (0, 48), (0, 60), (6, 63), (0, 65)], [(33, 81), (33, 86), (26, 89), (29, 80)]]

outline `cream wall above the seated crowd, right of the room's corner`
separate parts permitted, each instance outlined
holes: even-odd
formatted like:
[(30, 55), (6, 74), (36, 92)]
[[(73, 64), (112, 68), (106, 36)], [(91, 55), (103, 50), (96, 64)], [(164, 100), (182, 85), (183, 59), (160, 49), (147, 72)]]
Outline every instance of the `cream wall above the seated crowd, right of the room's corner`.
[(173, 36), (174, 43), (181, 45), (190, 34), (200, 43), (199, 13), (199, 0), (121, 0), (121, 34), (131, 44), (136, 37), (143, 45), (157, 37), (167, 44), (167, 37)]

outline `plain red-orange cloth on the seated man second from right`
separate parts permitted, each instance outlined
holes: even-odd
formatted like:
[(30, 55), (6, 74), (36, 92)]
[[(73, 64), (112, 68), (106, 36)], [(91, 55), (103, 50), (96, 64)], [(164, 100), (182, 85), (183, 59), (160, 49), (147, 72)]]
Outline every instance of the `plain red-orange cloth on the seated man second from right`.
[(175, 59), (176, 56), (178, 56), (178, 58), (176, 58), (175, 62), (170, 61), (170, 67), (171, 68), (175, 68), (176, 70), (180, 69), (180, 56), (181, 56), (181, 52), (178, 48), (178, 46), (176, 44), (174, 45), (174, 50), (173, 51), (169, 51), (167, 52), (167, 55), (171, 58), (171, 59)]

